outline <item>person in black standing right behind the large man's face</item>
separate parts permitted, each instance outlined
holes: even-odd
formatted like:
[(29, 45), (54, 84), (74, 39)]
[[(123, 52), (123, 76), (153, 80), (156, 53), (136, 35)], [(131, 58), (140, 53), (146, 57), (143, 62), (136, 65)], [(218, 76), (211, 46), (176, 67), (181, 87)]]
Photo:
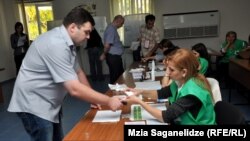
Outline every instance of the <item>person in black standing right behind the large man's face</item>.
[(104, 80), (102, 61), (100, 60), (100, 56), (103, 52), (103, 43), (102, 38), (95, 28), (93, 28), (90, 33), (86, 49), (88, 50), (91, 79), (93, 81)]

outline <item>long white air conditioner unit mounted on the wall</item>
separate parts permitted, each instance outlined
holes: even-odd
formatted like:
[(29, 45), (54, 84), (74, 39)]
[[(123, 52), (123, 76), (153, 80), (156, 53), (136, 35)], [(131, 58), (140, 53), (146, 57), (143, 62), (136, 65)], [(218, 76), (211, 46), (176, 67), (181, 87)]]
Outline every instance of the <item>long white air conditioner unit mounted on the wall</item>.
[(168, 39), (218, 36), (219, 12), (164, 14), (163, 25), (164, 37)]

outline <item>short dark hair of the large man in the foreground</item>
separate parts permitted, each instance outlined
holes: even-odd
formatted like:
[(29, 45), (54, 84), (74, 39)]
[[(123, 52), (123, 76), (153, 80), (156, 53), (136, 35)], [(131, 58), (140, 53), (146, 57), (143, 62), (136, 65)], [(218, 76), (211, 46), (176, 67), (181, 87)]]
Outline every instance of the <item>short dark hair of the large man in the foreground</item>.
[(91, 14), (83, 9), (82, 7), (78, 6), (73, 8), (67, 16), (63, 20), (63, 25), (67, 27), (71, 23), (75, 23), (76, 25), (82, 25), (83, 23), (90, 22), (92, 26), (95, 25), (95, 21)]

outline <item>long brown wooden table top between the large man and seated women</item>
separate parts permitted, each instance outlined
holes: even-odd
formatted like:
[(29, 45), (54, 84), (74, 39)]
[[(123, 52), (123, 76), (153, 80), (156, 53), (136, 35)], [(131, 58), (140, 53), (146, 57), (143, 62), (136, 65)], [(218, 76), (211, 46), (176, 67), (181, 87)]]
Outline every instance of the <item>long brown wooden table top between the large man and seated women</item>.
[[(131, 68), (136, 68), (139, 62), (133, 63), (116, 81), (119, 84), (126, 84), (128, 87), (135, 87), (132, 74), (129, 73)], [(156, 78), (159, 80), (160, 78)], [(113, 92), (108, 90), (107, 95), (112, 96)], [(130, 113), (131, 105), (122, 107), (122, 114)], [(108, 107), (103, 106), (103, 109)], [(97, 110), (90, 109), (82, 119), (73, 127), (73, 129), (65, 136), (63, 141), (122, 141), (124, 139), (124, 122), (129, 121), (129, 118), (121, 118), (115, 123), (93, 123)]]

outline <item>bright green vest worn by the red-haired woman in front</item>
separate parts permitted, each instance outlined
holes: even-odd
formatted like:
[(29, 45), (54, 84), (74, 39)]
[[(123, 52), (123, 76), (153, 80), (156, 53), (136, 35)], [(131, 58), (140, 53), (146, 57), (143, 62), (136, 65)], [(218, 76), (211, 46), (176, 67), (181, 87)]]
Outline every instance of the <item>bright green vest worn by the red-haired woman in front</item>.
[(201, 102), (202, 106), (196, 118), (192, 116), (189, 111), (183, 113), (176, 124), (180, 125), (214, 125), (215, 122), (215, 112), (214, 106), (212, 102), (212, 97), (210, 93), (201, 88), (196, 84), (194, 78), (189, 79), (178, 92), (178, 86), (173, 81), (170, 84), (170, 90), (172, 92), (172, 96), (169, 97), (169, 102), (172, 104), (179, 98), (186, 95), (193, 95), (197, 97)]

